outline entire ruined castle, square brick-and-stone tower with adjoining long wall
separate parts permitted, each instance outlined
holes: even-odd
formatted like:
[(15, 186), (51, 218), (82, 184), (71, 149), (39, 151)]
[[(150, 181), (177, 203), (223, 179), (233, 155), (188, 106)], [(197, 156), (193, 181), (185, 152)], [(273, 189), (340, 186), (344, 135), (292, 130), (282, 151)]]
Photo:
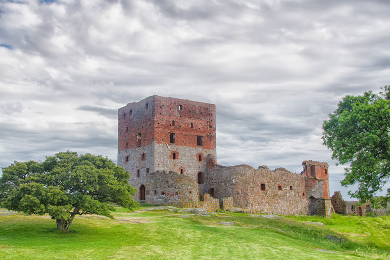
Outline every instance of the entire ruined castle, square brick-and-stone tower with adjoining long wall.
[(119, 108), (118, 119), (118, 165), (139, 189), (138, 201), (212, 211), (332, 212), (327, 163), (304, 161), (300, 174), (217, 164), (214, 104), (151, 96)]

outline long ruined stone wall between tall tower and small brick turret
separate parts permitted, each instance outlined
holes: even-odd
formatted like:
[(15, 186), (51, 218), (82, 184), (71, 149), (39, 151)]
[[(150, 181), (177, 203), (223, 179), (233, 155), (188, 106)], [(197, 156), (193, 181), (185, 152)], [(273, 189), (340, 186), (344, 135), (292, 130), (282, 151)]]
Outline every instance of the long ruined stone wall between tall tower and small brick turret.
[(217, 199), (231, 196), (235, 207), (289, 215), (307, 211), (302, 180), (302, 175), (284, 168), (270, 171), (265, 166), (254, 169), (249, 165), (215, 165), (207, 171), (201, 190), (208, 193), (213, 189)]

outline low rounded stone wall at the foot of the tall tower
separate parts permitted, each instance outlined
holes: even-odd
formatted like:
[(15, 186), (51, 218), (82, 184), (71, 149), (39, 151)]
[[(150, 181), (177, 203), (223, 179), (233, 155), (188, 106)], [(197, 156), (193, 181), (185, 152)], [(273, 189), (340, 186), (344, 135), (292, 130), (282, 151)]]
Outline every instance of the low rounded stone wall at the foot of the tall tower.
[(146, 174), (146, 203), (187, 208), (198, 206), (196, 181), (174, 171)]

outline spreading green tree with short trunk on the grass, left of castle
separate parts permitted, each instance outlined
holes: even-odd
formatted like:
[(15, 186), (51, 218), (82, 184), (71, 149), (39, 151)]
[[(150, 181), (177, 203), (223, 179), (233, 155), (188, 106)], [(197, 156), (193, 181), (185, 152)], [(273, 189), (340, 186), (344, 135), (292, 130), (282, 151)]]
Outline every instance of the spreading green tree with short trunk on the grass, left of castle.
[(76, 215), (112, 218), (113, 204), (133, 208), (136, 189), (129, 173), (108, 158), (75, 152), (47, 157), (42, 163), (17, 162), (2, 168), (1, 207), (26, 214), (48, 213), (57, 230), (69, 231)]

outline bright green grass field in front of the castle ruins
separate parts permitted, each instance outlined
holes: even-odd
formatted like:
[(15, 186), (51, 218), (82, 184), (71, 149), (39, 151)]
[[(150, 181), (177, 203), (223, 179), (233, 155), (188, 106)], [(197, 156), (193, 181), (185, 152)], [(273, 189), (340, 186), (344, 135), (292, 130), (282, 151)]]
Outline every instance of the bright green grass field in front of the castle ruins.
[(76, 217), (67, 234), (55, 231), (49, 216), (0, 215), (0, 259), (390, 259), (389, 216), (274, 220), (124, 208), (114, 214), (115, 220)]

